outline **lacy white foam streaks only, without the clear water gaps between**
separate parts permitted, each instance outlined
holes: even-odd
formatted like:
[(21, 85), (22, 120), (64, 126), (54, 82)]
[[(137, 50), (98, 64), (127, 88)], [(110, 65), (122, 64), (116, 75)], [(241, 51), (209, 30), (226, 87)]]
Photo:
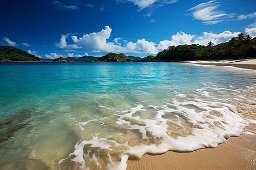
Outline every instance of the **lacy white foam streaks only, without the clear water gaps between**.
[[(205, 89), (199, 89), (197, 91), (203, 92)], [(207, 95), (209, 96), (209, 95)], [(215, 107), (213, 107), (215, 106)], [(152, 109), (153, 108), (153, 109)], [(135, 114), (138, 112), (155, 111), (154, 118), (141, 118)], [(174, 114), (177, 121), (171, 118), (163, 118), (166, 114)], [(211, 112), (220, 113), (219, 115), (211, 114)], [(166, 103), (164, 105), (143, 105), (137, 104), (134, 108), (130, 108), (125, 111), (116, 111), (114, 113), (116, 121), (113, 124), (129, 126), (130, 130), (138, 130), (142, 135), (142, 139), (157, 140), (160, 139), (160, 143), (148, 143), (147, 145), (141, 143), (141, 145), (129, 146), (129, 137), (127, 142), (118, 143), (113, 139), (98, 138), (98, 135), (94, 135), (92, 139), (88, 141), (80, 141), (75, 145), (75, 150), (69, 154), (69, 159), (72, 155), (75, 158), (71, 159), (72, 162), (76, 162), (80, 169), (86, 168), (86, 160), (94, 161), (101, 167), (97, 157), (93, 154), (89, 159), (89, 154), (84, 154), (84, 146), (89, 144), (90, 148), (100, 148), (100, 150), (114, 151), (113, 148), (119, 148), (121, 151), (119, 154), (120, 160), (114, 162), (111, 156), (108, 154), (109, 161), (106, 163), (108, 169), (125, 169), (126, 160), (129, 156), (135, 156), (141, 158), (147, 152), (152, 154), (159, 154), (171, 151), (193, 151), (199, 148), (216, 147), (219, 143), (225, 142), (227, 138), (231, 136), (238, 136), (242, 133), (243, 128), (248, 125), (248, 122), (243, 120), (236, 111), (236, 108), (231, 104), (203, 101), (200, 99), (193, 101), (179, 101), (173, 99), (172, 103)], [(184, 117), (186, 118), (184, 120)], [(89, 120), (86, 122), (79, 122), (80, 129), (83, 131), (83, 126), (88, 125), (90, 121), (102, 121), (104, 118)], [(131, 120), (131, 121), (127, 121)], [(190, 127), (191, 134), (185, 136), (172, 137), (170, 134), (172, 131), (168, 130), (167, 122), (172, 122), (176, 125), (175, 129), (186, 127), (182, 123), (188, 121), (189, 124), (200, 126), (200, 128)], [(139, 123), (136, 123), (139, 122)], [(199, 122), (201, 122), (199, 124)], [(105, 125), (105, 124), (104, 124)], [(106, 126), (106, 125), (105, 125)], [(187, 125), (186, 125), (187, 126)], [(117, 135), (123, 135), (118, 133)], [(189, 141), (189, 142), (188, 142)], [(62, 159), (59, 163), (63, 162)]]

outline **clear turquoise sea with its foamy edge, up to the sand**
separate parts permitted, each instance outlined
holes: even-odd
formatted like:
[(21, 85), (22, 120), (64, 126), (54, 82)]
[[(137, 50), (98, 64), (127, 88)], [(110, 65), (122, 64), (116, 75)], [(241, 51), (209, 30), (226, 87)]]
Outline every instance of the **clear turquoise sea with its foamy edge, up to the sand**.
[(242, 133), (242, 114), (255, 112), (255, 73), (188, 63), (0, 62), (0, 169), (125, 169), (129, 156), (216, 147)]

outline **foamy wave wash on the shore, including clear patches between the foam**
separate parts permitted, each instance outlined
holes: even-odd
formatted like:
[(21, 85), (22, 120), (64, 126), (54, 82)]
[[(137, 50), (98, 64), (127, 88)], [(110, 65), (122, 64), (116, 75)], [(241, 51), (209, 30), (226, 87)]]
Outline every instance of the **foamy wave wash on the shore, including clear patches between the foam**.
[[(197, 91), (209, 97), (204, 90)], [(77, 142), (75, 150), (59, 164), (71, 161), (79, 169), (125, 169), (129, 157), (140, 159), (146, 153), (216, 147), (229, 137), (239, 136), (249, 124), (231, 104), (200, 99), (185, 101), (184, 96), (176, 92), (176, 97), (169, 103), (163, 101), (163, 105), (153, 105), (148, 104), (151, 101), (144, 101), (123, 111), (98, 104), (100, 108), (112, 111), (111, 122), (109, 117), (79, 122), (81, 133), (90, 128), (93, 121), (104, 122), (101, 128), (118, 133), (92, 134), (91, 139)], [(143, 113), (152, 117), (146, 118)]]

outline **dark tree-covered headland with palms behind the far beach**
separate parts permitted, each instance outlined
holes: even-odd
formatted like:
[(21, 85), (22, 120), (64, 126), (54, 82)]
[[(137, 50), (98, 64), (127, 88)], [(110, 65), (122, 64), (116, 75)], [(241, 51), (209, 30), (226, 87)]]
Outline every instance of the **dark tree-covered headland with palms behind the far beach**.
[(169, 46), (159, 52), (155, 59), (160, 61), (185, 61), (185, 60), (212, 60), (212, 59), (245, 59), (256, 57), (256, 37), (244, 36), (240, 33), (228, 42), (214, 45), (209, 42), (207, 46), (192, 44)]

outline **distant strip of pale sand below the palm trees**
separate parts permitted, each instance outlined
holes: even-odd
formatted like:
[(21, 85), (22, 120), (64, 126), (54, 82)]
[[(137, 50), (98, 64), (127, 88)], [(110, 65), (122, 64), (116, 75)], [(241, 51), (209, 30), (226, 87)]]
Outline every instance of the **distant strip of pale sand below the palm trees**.
[(256, 59), (223, 60), (223, 61), (186, 61), (179, 63), (194, 63), (199, 65), (232, 66), (242, 69), (256, 70)]

